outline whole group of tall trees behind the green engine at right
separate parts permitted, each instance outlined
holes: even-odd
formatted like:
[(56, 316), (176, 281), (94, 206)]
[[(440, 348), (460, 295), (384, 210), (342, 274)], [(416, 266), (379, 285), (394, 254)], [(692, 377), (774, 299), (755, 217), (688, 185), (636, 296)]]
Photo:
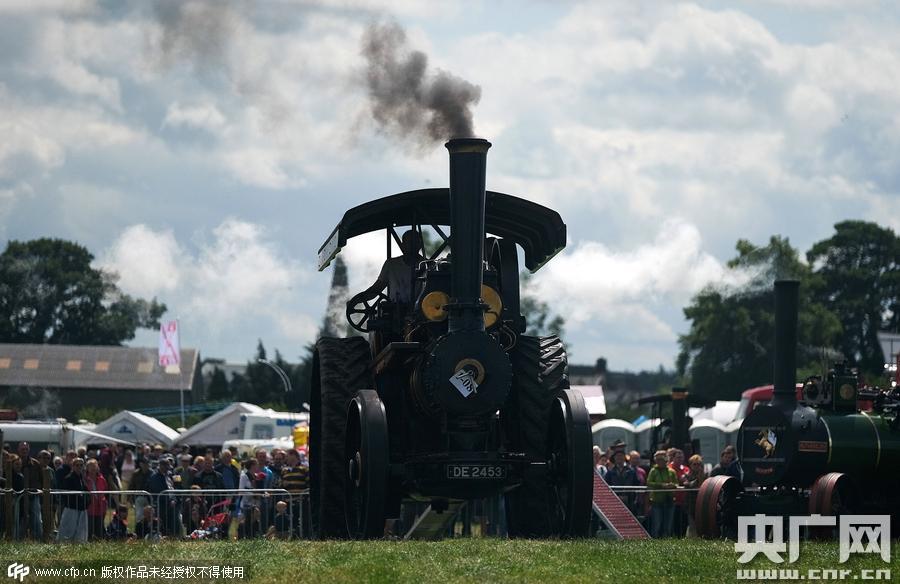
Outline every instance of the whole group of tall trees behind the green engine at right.
[[(889, 228), (843, 221), (804, 257), (787, 238), (757, 246), (737, 242), (728, 262), (732, 287), (710, 285), (684, 314), (678, 374), (693, 391), (737, 399), (772, 382), (775, 280), (800, 281), (798, 378), (846, 361), (870, 383), (881, 383), (884, 359), (877, 334), (900, 328), (900, 238)], [(804, 261), (805, 260), (805, 261)]]

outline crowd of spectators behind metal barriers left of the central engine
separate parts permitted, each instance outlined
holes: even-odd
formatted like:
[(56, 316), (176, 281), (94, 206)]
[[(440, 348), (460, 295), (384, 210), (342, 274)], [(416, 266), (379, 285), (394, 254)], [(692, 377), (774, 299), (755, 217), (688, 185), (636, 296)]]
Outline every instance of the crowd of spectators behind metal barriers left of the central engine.
[[(303, 450), (260, 449), (238, 460), (229, 450), (194, 455), (187, 447), (109, 444), (61, 456), (41, 450), (32, 458), (21, 442), (15, 453), (4, 445), (2, 456), (0, 530), (15, 539), (287, 539), (308, 533), (300, 522), (303, 511), (308, 517)], [(270, 492), (222, 492), (236, 489)]]

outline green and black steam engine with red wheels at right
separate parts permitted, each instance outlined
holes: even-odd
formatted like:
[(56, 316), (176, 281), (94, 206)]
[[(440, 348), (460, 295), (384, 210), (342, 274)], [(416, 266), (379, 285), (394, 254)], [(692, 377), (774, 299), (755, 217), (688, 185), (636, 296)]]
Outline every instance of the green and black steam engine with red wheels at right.
[[(889, 514), (900, 519), (900, 389), (861, 390), (843, 365), (795, 390), (798, 282), (775, 283), (772, 402), (741, 425), (736, 477), (707, 479), (695, 520), (703, 537), (735, 537), (741, 515)], [(871, 400), (861, 411), (857, 400)], [(745, 489), (753, 487), (753, 489)]]

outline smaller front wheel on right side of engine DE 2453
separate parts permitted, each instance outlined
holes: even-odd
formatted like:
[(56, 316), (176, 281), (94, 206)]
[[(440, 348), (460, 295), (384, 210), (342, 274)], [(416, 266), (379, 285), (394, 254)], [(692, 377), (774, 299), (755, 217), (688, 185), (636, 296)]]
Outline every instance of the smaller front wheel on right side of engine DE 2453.
[(550, 491), (555, 510), (552, 527), (560, 537), (587, 537), (593, 497), (591, 419), (584, 397), (572, 389), (553, 404), (548, 437)]

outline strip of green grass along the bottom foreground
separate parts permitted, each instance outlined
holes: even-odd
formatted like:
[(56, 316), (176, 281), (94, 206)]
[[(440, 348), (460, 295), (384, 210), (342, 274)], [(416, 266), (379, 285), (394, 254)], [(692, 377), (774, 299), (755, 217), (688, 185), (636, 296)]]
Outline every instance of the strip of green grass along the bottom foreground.
[[(895, 542), (900, 545), (900, 542)], [(895, 550), (896, 550), (895, 545)], [(243, 565), (252, 582), (736, 582), (741, 568), (890, 569), (900, 580), (900, 558), (887, 565), (874, 555), (854, 555), (838, 564), (836, 543), (804, 544), (794, 564), (772, 564), (758, 556), (738, 564), (734, 545), (700, 540), (524, 541), (453, 539), (443, 542), (162, 542), (82, 545), (0, 543), (0, 570), (10, 562), (31, 567), (24, 582), (103, 581), (41, 577), (36, 567), (81, 570), (145, 564)], [(82, 572), (83, 573), (83, 572)], [(0, 579), (5, 574), (0, 574)], [(852, 580), (853, 575), (846, 576)], [(11, 580), (7, 580), (11, 581)], [(111, 580), (106, 580), (110, 582)], [(166, 580), (189, 582), (190, 580)], [(198, 580), (193, 580), (198, 581)], [(223, 581), (223, 580), (218, 580)], [(231, 580), (234, 581), (234, 580)], [(741, 580), (747, 581), (747, 580)]]

